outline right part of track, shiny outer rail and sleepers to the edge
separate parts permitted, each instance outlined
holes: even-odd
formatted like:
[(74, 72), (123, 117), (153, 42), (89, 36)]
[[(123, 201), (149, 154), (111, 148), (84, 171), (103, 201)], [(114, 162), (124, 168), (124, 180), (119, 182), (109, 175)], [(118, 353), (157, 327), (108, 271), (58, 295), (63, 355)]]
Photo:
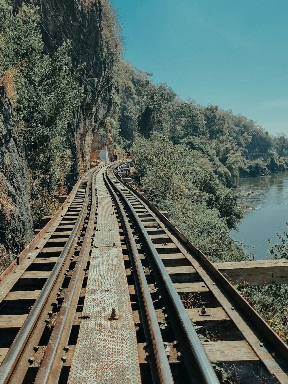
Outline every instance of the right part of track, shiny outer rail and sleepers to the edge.
[[(286, 344), (166, 217), (121, 180), (121, 171), (117, 175), (111, 167), (109, 182), (133, 223), (144, 255), (142, 264), (156, 281), (154, 289), (160, 293), (162, 311), (190, 380), (197, 376), (200, 382), (213, 382), (207, 359), (201, 361), (204, 349), (218, 372), (228, 372), (235, 381), (288, 382)], [(177, 305), (179, 297), (182, 308)], [(201, 346), (185, 328), (191, 320), (204, 336)]]

